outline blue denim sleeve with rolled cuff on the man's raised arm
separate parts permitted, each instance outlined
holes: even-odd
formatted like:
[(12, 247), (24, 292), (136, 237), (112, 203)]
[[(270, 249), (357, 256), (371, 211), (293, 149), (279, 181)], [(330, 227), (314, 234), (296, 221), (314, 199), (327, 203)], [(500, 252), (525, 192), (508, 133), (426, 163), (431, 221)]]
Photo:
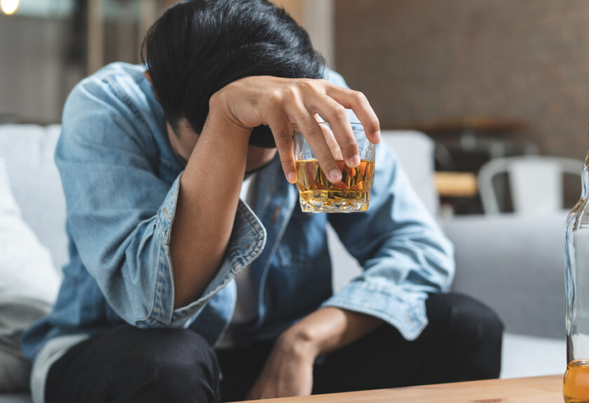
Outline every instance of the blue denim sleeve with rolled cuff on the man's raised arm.
[(157, 175), (149, 144), (154, 128), (126, 101), (113, 83), (95, 78), (68, 97), (55, 152), (67, 229), (83, 266), (123, 320), (179, 327), (257, 257), (265, 231), (240, 203), (219, 270), (196, 301), (174, 309), (170, 230), (182, 174), (171, 187)]

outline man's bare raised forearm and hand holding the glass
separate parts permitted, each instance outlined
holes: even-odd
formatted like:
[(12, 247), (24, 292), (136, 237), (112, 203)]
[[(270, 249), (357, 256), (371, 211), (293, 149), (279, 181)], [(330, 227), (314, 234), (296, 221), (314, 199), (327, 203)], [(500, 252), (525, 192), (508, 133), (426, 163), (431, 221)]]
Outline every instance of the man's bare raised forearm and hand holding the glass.
[(233, 81), (212, 95), (205, 127), (180, 181), (170, 235), (175, 308), (198, 299), (222, 263), (252, 128), (269, 125), (285, 176), (294, 183), (292, 125), (298, 125), (322, 169), (338, 182), (341, 172), (314, 114), (320, 112), (339, 129), (332, 142), (339, 144), (348, 165), (357, 166), (358, 144), (344, 107), (360, 117), (370, 141), (380, 141), (379, 121), (364, 95), (328, 81), (254, 76)]

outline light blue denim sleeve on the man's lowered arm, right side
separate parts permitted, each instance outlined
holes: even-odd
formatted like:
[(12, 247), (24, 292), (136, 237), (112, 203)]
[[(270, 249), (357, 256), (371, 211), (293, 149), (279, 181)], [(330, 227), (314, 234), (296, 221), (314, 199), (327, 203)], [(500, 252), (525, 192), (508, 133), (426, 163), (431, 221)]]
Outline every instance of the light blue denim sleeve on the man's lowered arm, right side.
[[(331, 74), (345, 86), (341, 76)], [(428, 323), (428, 293), (449, 289), (454, 247), (384, 143), (377, 146), (375, 168), (368, 211), (329, 215), (342, 243), (364, 270), (323, 306), (379, 317), (405, 339), (414, 340)]]

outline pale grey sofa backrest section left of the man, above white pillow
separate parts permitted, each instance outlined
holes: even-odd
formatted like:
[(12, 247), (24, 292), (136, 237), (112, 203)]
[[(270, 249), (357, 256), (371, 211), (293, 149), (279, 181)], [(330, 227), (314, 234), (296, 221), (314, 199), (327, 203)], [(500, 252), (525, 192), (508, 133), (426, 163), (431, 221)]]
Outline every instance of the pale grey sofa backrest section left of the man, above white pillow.
[(49, 248), (57, 268), (68, 259), (65, 197), (53, 162), (59, 135), (59, 125), (0, 125), (0, 158), (22, 218)]

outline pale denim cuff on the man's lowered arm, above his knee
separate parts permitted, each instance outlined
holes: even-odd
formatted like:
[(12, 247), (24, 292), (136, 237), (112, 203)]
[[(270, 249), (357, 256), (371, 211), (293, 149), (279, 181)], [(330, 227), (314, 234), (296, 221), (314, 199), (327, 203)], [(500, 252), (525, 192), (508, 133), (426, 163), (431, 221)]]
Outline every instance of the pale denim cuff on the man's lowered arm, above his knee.
[(353, 280), (322, 307), (353, 310), (384, 320), (394, 326), (408, 341), (417, 339), (428, 325), (425, 292), (406, 292), (396, 285), (371, 284)]

